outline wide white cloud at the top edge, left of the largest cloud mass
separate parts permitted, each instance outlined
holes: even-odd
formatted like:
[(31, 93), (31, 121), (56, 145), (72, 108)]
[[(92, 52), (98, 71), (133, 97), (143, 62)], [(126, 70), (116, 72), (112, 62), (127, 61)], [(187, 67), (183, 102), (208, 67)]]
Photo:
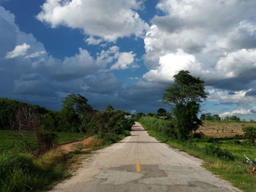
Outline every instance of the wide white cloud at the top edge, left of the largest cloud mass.
[(113, 42), (119, 37), (143, 37), (148, 28), (136, 10), (141, 9), (137, 0), (47, 0), (37, 18), (50, 26), (80, 28), (91, 37), (89, 44), (96, 44), (94, 37)]

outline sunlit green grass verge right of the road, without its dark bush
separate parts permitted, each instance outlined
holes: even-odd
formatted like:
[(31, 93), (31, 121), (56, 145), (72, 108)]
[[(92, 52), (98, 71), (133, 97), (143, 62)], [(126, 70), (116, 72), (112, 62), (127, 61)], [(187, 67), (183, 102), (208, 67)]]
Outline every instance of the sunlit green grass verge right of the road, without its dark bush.
[[(167, 134), (159, 131), (159, 128), (157, 129), (157, 124), (159, 124), (159, 122), (161, 123), (162, 120), (159, 121), (152, 118), (140, 118), (139, 120), (139, 123), (148, 130), (148, 133), (151, 136), (156, 137), (159, 141), (165, 142), (171, 147), (176, 147), (190, 155), (203, 159), (206, 161), (206, 164), (203, 165), (206, 169), (214, 174), (218, 174), (223, 179), (228, 180), (235, 187), (248, 192), (256, 191), (256, 175), (249, 173), (252, 166), (244, 162), (245, 159), (243, 156), (246, 154), (249, 158), (256, 158), (256, 147), (237, 145), (234, 144), (232, 140), (218, 141), (217, 143), (214, 143), (214, 146), (219, 146), (221, 150), (226, 150), (233, 155), (234, 159), (227, 161), (225, 158), (218, 158), (217, 155), (208, 155), (211, 153), (206, 151), (206, 146), (211, 146), (213, 145), (212, 143), (200, 142), (198, 140), (180, 142), (176, 139), (171, 139)], [(208, 148), (211, 149), (211, 147)]]

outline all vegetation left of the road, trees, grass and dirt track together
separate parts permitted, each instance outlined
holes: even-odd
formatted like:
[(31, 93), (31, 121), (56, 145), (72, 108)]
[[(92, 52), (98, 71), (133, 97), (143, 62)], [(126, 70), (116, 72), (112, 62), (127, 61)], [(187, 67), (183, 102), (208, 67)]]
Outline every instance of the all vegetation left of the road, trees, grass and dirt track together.
[(91, 150), (129, 135), (129, 112), (97, 111), (87, 101), (70, 94), (61, 111), (52, 111), (0, 99), (0, 192), (48, 190)]

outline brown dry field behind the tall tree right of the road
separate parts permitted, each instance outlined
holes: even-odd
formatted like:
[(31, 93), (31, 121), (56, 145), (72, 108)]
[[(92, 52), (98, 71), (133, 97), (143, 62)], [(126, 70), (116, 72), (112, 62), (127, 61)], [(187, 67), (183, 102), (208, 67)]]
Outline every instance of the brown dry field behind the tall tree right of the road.
[(197, 132), (203, 132), (211, 137), (234, 137), (235, 135), (243, 135), (244, 127), (254, 126), (255, 123), (249, 122), (214, 122), (214, 121), (204, 121), (203, 126), (198, 128)]

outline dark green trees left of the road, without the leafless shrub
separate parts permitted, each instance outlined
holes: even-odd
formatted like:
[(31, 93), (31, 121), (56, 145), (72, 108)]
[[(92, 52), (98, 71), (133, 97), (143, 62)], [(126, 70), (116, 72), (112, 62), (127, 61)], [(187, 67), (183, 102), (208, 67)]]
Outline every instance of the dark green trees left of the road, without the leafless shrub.
[[(129, 129), (132, 124), (129, 112), (114, 110), (94, 110), (88, 99), (80, 94), (65, 97), (60, 111), (48, 110), (39, 105), (31, 105), (12, 99), (0, 99), (0, 129), (18, 129), (18, 115), (34, 114), (39, 118), (39, 126), (48, 131), (83, 132), (95, 134), (113, 131), (114, 134)], [(25, 117), (23, 117), (25, 118)], [(129, 127), (129, 128), (128, 128)]]

